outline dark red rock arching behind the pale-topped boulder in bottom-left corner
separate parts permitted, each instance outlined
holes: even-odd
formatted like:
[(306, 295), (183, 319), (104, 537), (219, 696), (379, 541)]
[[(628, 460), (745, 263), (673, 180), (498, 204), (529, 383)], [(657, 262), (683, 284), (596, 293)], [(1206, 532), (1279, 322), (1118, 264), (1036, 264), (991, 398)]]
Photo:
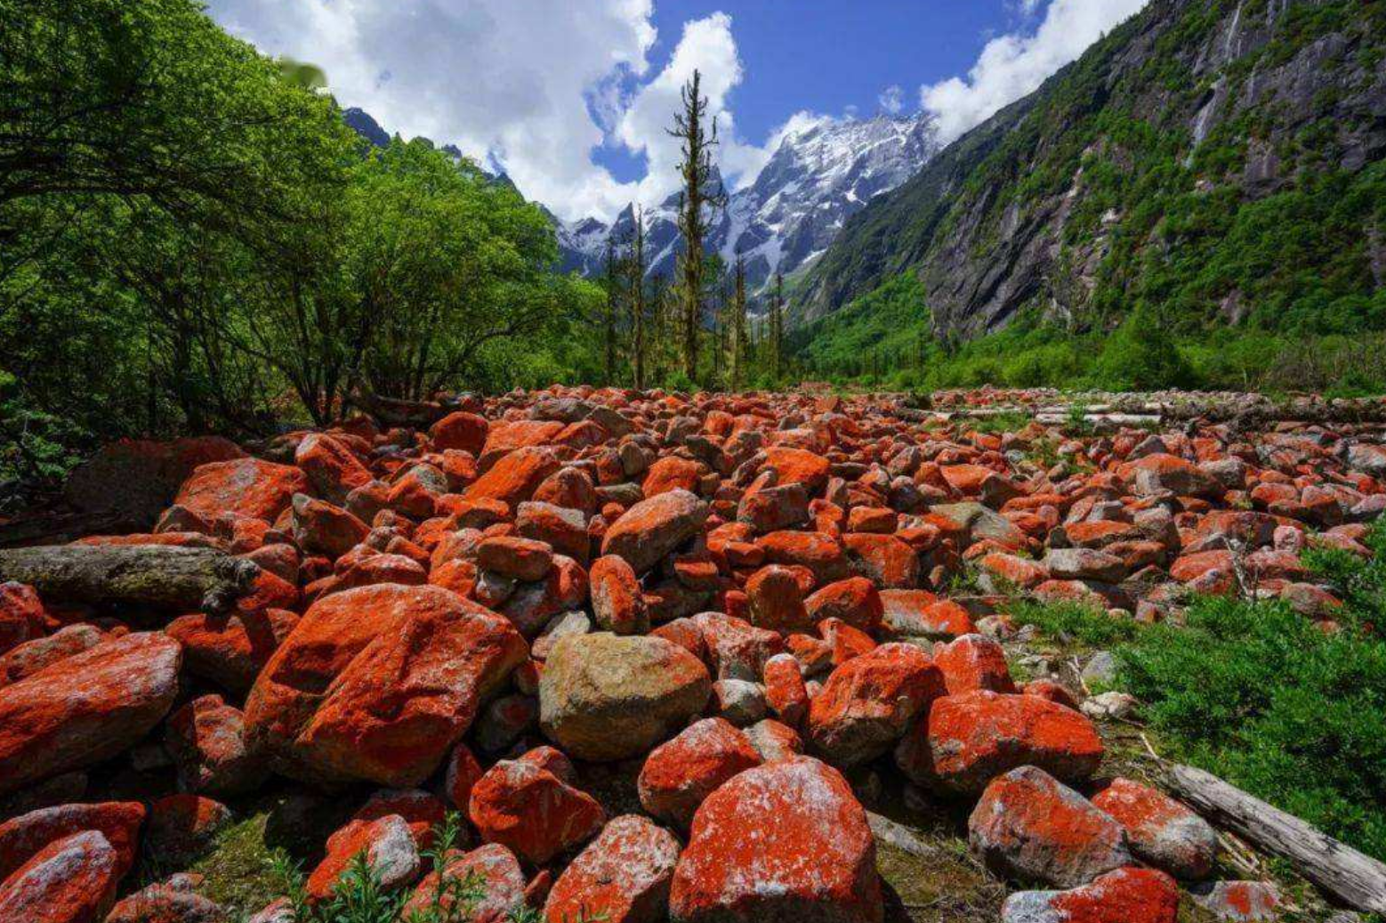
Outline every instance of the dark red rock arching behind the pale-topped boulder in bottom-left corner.
[(43, 848), (83, 830), (98, 830), (115, 855), (115, 876), (123, 877), (139, 852), (144, 805), (139, 801), (64, 804), (40, 808), (0, 823), (0, 881)]

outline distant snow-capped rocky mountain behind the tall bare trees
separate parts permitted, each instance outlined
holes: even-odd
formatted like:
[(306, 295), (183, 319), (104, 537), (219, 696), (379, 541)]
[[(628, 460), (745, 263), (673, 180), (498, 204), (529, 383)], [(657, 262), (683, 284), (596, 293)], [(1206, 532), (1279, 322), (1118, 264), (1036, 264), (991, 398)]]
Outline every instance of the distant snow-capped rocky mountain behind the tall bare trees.
[[(927, 116), (819, 119), (790, 132), (750, 186), (728, 198), (712, 225), (710, 249), (728, 262), (746, 255), (753, 288), (789, 274), (819, 254), (852, 213), (913, 176), (937, 152)], [(647, 209), (650, 273), (672, 277), (679, 251), (678, 195)], [(602, 272), (608, 237), (629, 238), (631, 209), (611, 226), (586, 218), (559, 223), (564, 267)]]

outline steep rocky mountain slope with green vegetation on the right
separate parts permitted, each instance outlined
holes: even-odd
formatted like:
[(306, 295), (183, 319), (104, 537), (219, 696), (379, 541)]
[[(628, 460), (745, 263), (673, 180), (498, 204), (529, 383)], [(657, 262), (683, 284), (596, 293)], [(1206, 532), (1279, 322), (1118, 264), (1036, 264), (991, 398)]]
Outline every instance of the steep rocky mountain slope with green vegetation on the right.
[(1137, 304), (1185, 330), (1380, 327), (1383, 51), (1386, 0), (1152, 0), (848, 220), (797, 319), (915, 272), (948, 337)]

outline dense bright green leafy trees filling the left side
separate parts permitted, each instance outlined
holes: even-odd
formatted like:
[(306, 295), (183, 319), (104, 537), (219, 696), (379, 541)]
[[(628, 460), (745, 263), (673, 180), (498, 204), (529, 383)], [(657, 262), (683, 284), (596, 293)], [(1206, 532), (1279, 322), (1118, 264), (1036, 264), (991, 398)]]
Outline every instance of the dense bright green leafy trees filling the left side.
[(129, 434), (256, 435), (352, 389), (590, 374), (547, 218), (371, 148), (191, 0), (0, 0), (0, 484)]

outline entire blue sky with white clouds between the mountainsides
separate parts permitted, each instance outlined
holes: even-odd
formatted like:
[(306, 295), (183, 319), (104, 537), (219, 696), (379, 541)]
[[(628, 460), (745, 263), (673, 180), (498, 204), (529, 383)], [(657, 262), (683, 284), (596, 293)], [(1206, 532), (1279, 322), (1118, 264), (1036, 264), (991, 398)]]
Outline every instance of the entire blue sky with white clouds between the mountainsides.
[(207, 1), (263, 53), (320, 65), (342, 105), (574, 219), (672, 191), (664, 129), (694, 68), (736, 186), (791, 133), (883, 105), (955, 139), (1148, 0)]

